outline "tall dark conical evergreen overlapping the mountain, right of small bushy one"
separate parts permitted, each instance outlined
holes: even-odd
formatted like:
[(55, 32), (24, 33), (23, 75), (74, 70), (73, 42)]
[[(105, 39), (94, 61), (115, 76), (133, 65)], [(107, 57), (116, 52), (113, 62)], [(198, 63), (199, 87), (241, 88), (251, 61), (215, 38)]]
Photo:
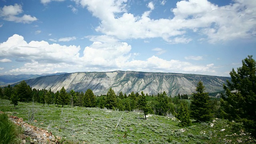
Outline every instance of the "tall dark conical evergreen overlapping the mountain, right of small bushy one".
[(202, 81), (199, 81), (196, 87), (196, 93), (191, 97), (191, 116), (197, 121), (208, 121), (212, 117), (210, 109), (210, 97)]

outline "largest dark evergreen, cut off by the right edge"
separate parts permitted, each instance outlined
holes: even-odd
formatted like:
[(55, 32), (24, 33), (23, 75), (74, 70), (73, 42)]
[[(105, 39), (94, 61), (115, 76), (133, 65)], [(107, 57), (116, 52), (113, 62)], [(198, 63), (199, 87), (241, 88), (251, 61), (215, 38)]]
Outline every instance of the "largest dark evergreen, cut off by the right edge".
[(252, 56), (242, 60), (237, 72), (230, 72), (231, 82), (223, 88), (222, 112), (226, 118), (242, 122), (247, 132), (256, 138), (256, 62)]

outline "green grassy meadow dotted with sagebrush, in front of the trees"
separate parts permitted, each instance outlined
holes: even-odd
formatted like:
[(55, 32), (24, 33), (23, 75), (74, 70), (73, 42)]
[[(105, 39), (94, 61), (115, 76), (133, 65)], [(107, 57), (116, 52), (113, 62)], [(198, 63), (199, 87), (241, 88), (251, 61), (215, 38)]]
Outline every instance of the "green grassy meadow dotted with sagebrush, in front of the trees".
[[(0, 100), (0, 110), (28, 122), (33, 104), (19, 102), (14, 109), (9, 100)], [(35, 103), (34, 113), (38, 122), (28, 123), (51, 131), (55, 136), (62, 137), (63, 141), (66, 139), (66, 143), (225, 144), (250, 139), (242, 133), (240, 124), (221, 119), (206, 123), (193, 122), (192, 126), (182, 128), (175, 118), (151, 115), (144, 120), (142, 112), (71, 106), (58, 108), (55, 105), (43, 107)]]

